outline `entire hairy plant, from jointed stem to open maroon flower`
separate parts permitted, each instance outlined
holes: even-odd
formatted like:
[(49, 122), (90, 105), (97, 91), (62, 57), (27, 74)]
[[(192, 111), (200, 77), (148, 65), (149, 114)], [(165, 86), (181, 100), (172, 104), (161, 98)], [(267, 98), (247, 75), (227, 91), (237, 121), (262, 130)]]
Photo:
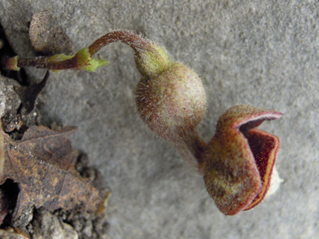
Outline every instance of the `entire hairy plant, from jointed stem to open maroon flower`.
[(141, 118), (203, 174), (218, 209), (225, 215), (235, 215), (260, 203), (270, 185), (279, 139), (255, 127), (282, 114), (251, 106), (232, 107), (220, 117), (214, 137), (206, 144), (196, 132), (206, 109), (202, 81), (188, 67), (171, 61), (160, 45), (119, 30), (100, 37), (73, 56), (13, 57), (2, 64), (10, 70), (33, 66), (95, 71), (108, 62), (92, 56), (113, 42), (122, 42), (134, 50), (142, 75), (136, 89)]

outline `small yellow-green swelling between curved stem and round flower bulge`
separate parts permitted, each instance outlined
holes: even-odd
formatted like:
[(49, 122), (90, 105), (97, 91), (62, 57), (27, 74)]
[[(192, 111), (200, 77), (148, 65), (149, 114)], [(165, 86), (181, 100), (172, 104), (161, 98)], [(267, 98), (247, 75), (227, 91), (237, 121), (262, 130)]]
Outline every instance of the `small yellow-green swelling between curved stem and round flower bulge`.
[(159, 75), (171, 65), (166, 49), (154, 43), (150, 43), (141, 51), (136, 51), (135, 62), (140, 73), (148, 77)]

